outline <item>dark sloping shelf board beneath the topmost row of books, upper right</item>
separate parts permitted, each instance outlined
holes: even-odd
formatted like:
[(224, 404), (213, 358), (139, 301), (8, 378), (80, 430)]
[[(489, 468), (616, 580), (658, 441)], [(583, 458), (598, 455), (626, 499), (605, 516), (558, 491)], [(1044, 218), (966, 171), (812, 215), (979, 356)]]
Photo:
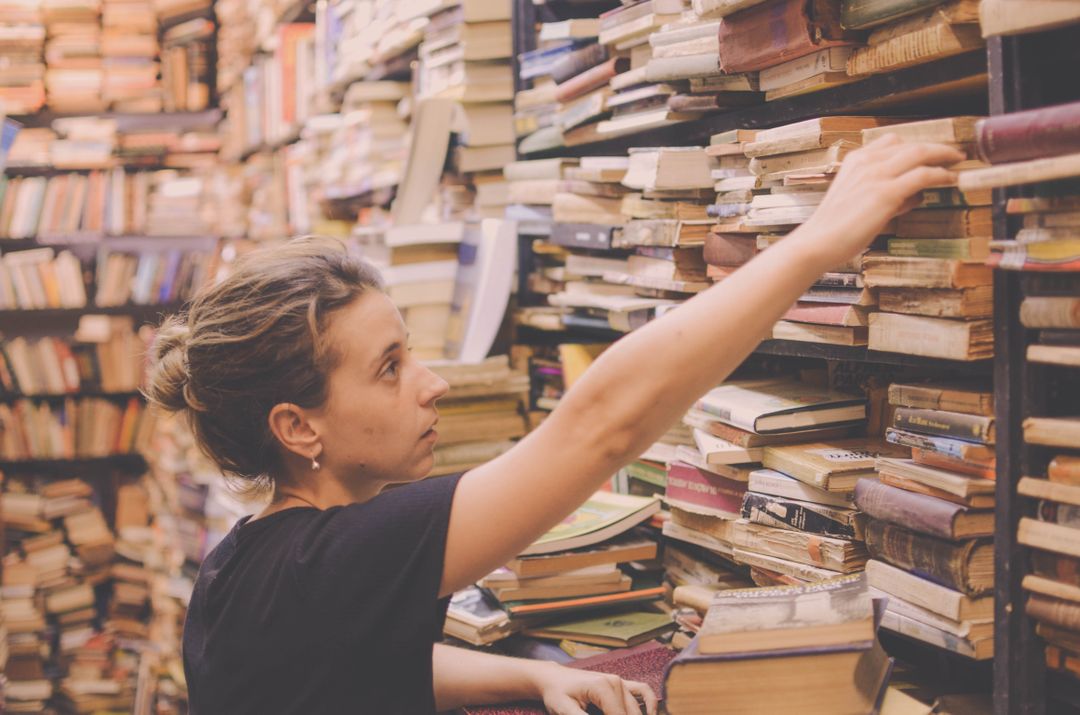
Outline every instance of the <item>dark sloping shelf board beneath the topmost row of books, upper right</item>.
[[(624, 153), (630, 147), (707, 145), (713, 134), (733, 129), (791, 124), (826, 114), (850, 113), (957, 113), (958, 100), (967, 111), (986, 111), (986, 53), (970, 52), (850, 84), (786, 99), (767, 102), (734, 111), (647, 130), (611, 139), (558, 147), (526, 154), (529, 159)], [(943, 99), (948, 99), (942, 106)]]

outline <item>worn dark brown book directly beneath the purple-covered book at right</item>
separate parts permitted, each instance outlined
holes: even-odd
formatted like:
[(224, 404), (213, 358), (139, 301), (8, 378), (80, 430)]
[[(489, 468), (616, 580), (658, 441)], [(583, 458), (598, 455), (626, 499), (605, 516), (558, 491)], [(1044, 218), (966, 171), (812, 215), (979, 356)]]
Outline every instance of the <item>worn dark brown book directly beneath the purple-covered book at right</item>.
[(872, 557), (969, 596), (990, 591), (970, 582), (969, 561), (976, 543), (950, 543), (876, 518), (866, 524), (866, 548)]

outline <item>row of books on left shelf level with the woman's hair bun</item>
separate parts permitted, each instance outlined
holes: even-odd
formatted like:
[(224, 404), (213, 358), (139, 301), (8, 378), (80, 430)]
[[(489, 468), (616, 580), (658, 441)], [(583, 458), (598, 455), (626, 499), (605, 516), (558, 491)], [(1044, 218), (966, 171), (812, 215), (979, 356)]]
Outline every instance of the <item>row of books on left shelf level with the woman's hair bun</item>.
[[(83, 321), (87, 321), (84, 319)], [(14, 337), (0, 343), (0, 394), (131, 392), (143, 382), (143, 338), (130, 318), (100, 316), (73, 337)]]

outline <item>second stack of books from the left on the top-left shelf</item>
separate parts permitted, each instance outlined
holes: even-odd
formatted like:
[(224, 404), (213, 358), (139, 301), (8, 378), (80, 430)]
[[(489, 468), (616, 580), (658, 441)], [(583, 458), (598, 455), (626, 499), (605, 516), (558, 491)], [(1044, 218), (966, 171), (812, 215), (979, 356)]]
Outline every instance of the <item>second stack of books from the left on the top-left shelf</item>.
[(107, 109), (102, 90), (102, 4), (96, 0), (43, 2), (45, 95), (54, 111), (94, 113)]

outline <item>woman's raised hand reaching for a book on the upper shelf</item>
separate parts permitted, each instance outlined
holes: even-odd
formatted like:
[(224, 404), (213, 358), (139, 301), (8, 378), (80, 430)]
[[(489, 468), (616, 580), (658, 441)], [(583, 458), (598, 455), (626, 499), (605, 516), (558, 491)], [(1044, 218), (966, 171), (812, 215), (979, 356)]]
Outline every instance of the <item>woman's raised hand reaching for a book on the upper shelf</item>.
[(887, 134), (848, 154), (813, 216), (799, 230), (815, 248), (843, 262), (865, 248), (897, 214), (919, 205), (919, 193), (956, 183), (945, 168), (963, 161), (944, 144), (904, 144)]

